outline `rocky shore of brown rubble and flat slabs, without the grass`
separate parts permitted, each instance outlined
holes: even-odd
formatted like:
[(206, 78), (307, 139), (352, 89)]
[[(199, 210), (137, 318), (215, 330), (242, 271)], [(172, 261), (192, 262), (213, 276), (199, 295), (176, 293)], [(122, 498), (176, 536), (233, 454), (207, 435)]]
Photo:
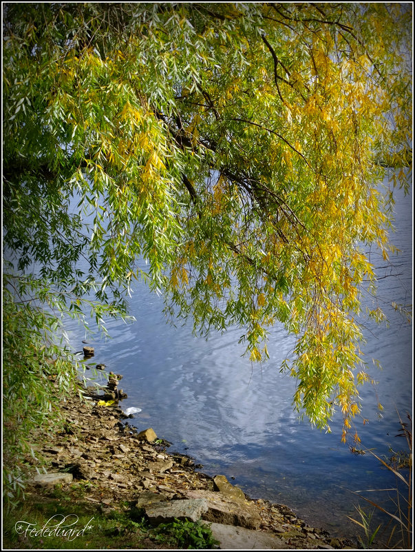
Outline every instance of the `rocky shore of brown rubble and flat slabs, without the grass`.
[[(113, 377), (114, 374), (112, 374)], [(118, 375), (118, 379), (120, 376)], [(355, 543), (339, 540), (323, 529), (309, 527), (281, 504), (251, 500), (224, 476), (206, 476), (193, 460), (169, 453), (169, 443), (151, 427), (129, 425), (117, 401), (108, 393), (83, 389), (61, 408), (63, 430), (54, 442), (37, 442), (47, 473), (29, 481), (28, 490), (61, 485), (65, 492), (76, 481), (85, 485), (85, 500), (101, 514), (118, 504), (134, 502), (151, 526), (178, 520), (211, 523), (220, 549), (345, 549)], [(33, 464), (36, 460), (32, 460)], [(147, 542), (148, 548), (159, 548)], [(129, 546), (126, 546), (129, 547)]]

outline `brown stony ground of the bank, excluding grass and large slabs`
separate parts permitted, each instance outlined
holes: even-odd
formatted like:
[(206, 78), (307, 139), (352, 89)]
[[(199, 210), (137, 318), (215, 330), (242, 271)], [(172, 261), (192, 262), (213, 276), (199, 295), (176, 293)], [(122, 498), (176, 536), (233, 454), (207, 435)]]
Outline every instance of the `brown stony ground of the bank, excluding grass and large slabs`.
[[(65, 423), (61, 431), (54, 433), (53, 442), (45, 442), (40, 431), (33, 436), (36, 458), (28, 457), (33, 467), (39, 468), (43, 462), (48, 473), (72, 473), (73, 482), (85, 483), (82, 500), (94, 504), (103, 514), (110, 514), (126, 502), (145, 509), (146, 501), (188, 498), (189, 491), (222, 495), (212, 477), (197, 471), (200, 466), (191, 457), (169, 453), (169, 443), (158, 439), (152, 430), (139, 432), (129, 425), (128, 418), (134, 415), (126, 416), (117, 401), (103, 405), (103, 398), (96, 395), (95, 388), (83, 391), (86, 393), (83, 398), (74, 394), (62, 402)], [(226, 500), (233, 500), (233, 491), (240, 489), (226, 483), (229, 491)], [(69, 493), (70, 488), (69, 483), (63, 484), (62, 491), (67, 489)], [(28, 488), (29, 495), (36, 493), (35, 487), (32, 489)], [(273, 533), (284, 540), (286, 548), (358, 547), (357, 542), (340, 540), (328, 531), (309, 527), (283, 504), (251, 500), (247, 495), (244, 502), (256, 509), (260, 518), (256, 531)], [(160, 548), (151, 541), (146, 545), (149, 549)]]

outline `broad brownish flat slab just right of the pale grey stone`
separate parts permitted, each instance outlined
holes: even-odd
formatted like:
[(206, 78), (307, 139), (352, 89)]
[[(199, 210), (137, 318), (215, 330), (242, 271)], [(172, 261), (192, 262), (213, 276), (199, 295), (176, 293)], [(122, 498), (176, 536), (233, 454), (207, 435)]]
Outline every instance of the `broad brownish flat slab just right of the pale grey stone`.
[(206, 500), (209, 509), (202, 515), (202, 519), (206, 521), (237, 525), (246, 529), (258, 529), (261, 524), (257, 508), (248, 500), (233, 500), (222, 493), (202, 489), (190, 489), (183, 491), (183, 494), (187, 498)]

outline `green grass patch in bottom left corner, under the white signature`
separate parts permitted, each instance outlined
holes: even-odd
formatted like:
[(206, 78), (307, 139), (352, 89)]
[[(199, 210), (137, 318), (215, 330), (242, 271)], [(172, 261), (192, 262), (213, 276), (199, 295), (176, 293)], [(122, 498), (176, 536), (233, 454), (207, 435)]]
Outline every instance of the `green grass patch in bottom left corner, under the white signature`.
[[(76, 486), (72, 486), (76, 487)], [(79, 486), (77, 486), (79, 487)], [(81, 487), (27, 496), (3, 511), (3, 549), (213, 549), (209, 525), (179, 521), (153, 528), (134, 502), (105, 511)]]

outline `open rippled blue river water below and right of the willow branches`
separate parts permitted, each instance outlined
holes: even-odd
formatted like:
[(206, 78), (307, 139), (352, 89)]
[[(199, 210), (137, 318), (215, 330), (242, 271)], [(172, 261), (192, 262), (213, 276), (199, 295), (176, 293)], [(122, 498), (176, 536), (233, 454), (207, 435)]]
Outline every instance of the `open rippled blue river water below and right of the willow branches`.
[[(394, 268), (372, 255), (372, 263), (384, 267), (379, 276), (387, 276), (379, 280), (378, 296), (390, 325), (372, 324), (366, 331), (363, 351), (378, 383), (361, 391), (368, 423), (356, 420), (363, 447), (379, 456), (390, 456), (389, 447), (404, 448), (404, 440), (396, 437), (396, 409), (403, 417), (412, 411), (412, 327), (383, 303), (412, 303), (412, 198), (398, 192), (395, 209), (392, 242), (402, 252), (392, 259)], [(359, 502), (351, 491), (396, 487), (393, 474), (370, 453), (352, 454), (341, 443), (341, 416), (331, 423), (332, 433), (297, 419), (291, 404), (295, 380), (279, 374), (281, 361), (294, 345), (284, 329), (273, 329), (266, 365), (251, 365), (237, 343), (240, 329), (206, 341), (192, 336), (190, 324), (167, 325), (162, 298), (144, 283), (136, 285), (130, 307), (136, 322), (110, 321), (111, 340), (94, 338), (93, 360), (123, 374), (122, 387), (128, 393), (123, 408), (142, 409), (129, 420), (131, 425), (139, 430), (153, 427), (172, 443), (170, 451), (193, 456), (204, 473), (223, 473), (251, 498), (287, 504), (309, 524), (339, 535), (357, 533), (347, 518), (356, 517), (354, 504)], [(67, 330), (73, 350), (81, 349), (83, 328), (68, 323)], [(92, 377), (92, 371), (87, 376)], [(388, 494), (394, 496), (392, 491), (365, 495), (390, 507)]]

